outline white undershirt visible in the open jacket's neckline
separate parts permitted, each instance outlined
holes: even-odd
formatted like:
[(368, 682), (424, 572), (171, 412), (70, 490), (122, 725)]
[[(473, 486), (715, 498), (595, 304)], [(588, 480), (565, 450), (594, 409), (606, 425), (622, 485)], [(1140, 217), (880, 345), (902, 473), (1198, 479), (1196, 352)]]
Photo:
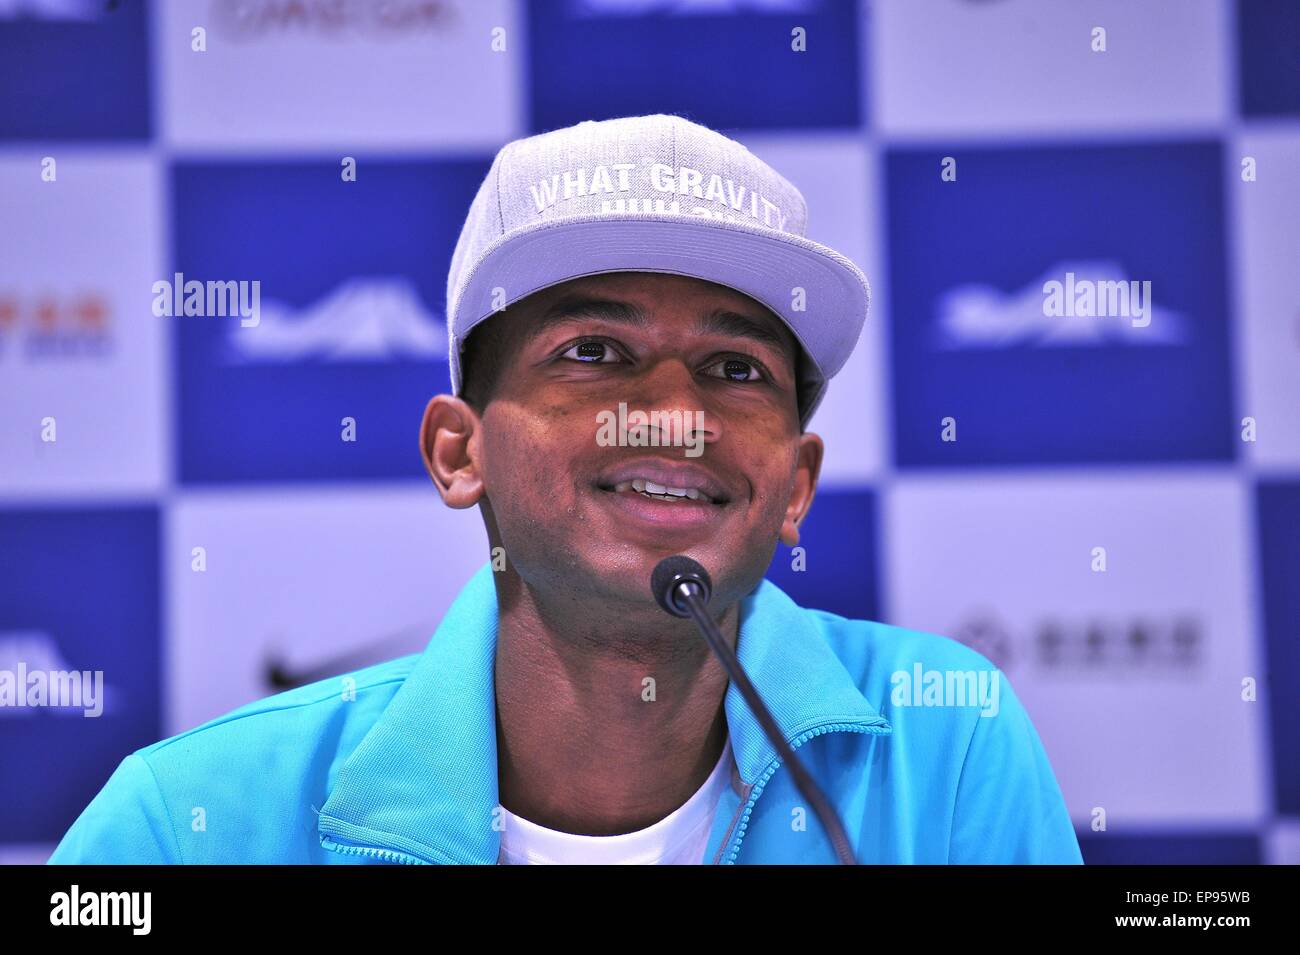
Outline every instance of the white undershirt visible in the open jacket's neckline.
[(699, 865), (723, 790), (731, 783), (731, 739), (714, 772), (690, 799), (654, 825), (620, 835), (573, 835), (546, 829), (504, 806), (502, 865)]

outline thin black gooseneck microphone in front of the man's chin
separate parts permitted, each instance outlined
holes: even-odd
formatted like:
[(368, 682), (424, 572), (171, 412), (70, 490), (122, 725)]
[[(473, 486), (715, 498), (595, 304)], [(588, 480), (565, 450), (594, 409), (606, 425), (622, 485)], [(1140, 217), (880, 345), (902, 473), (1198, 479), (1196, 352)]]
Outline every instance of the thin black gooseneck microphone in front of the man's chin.
[(707, 604), (714, 590), (714, 582), (710, 579), (708, 572), (698, 561), (692, 560), (684, 554), (664, 557), (655, 565), (654, 573), (650, 574), (650, 590), (658, 604), (672, 616), (694, 618), (696, 625), (705, 634), (705, 639), (708, 641), (708, 646), (712, 647), (714, 654), (718, 655), (723, 667), (727, 668), (731, 681), (740, 689), (745, 703), (749, 704), (750, 712), (754, 713), (754, 717), (763, 728), (763, 733), (767, 734), (772, 746), (776, 747), (781, 761), (790, 768), (790, 773), (794, 776), (794, 785), (798, 786), (800, 793), (812, 807), (812, 811), (816, 812), (816, 817), (822, 820), (822, 826), (826, 829), (827, 835), (831, 838), (831, 845), (835, 847), (836, 858), (844, 865), (857, 865), (858, 860), (853, 856), (849, 837), (844, 832), (844, 824), (840, 822), (840, 817), (835, 815), (835, 808), (832, 808), (831, 802), (818, 787), (816, 782), (814, 782), (807, 769), (803, 768), (803, 764), (794, 756), (794, 750), (785, 742), (785, 737), (781, 735), (776, 720), (767, 711), (762, 698), (758, 695), (758, 690), (754, 689), (754, 685), (749, 682), (749, 677), (745, 676), (745, 670), (741, 669), (740, 660), (736, 659), (731, 647), (723, 641), (723, 634), (718, 629), (718, 624), (708, 616)]

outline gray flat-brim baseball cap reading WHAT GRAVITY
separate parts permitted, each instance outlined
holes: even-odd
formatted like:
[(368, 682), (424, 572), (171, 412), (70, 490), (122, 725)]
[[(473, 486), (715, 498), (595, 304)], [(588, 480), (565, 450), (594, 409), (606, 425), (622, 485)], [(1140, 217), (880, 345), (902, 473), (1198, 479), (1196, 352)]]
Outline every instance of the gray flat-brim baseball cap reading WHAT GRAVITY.
[(451, 391), (478, 322), (552, 285), (606, 272), (716, 282), (770, 308), (801, 346), (801, 424), (867, 318), (871, 287), (806, 238), (807, 203), (740, 143), (680, 116), (586, 121), (507, 143), (447, 275)]

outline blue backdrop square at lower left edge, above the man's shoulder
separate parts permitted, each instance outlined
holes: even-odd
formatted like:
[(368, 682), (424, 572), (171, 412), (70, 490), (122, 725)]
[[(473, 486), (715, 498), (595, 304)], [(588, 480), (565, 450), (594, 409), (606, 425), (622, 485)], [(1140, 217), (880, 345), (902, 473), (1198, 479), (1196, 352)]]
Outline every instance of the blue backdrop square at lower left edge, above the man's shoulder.
[(162, 735), (159, 512), (0, 512), (0, 843), (57, 842)]

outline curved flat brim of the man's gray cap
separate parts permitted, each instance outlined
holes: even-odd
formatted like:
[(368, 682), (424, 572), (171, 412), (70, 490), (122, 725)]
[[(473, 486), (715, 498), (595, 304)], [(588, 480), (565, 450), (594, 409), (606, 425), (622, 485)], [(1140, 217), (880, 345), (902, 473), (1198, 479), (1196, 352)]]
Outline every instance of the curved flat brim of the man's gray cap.
[[(816, 376), (807, 383), (805, 425), (827, 381), (853, 352), (871, 305), (871, 287), (853, 261), (800, 235), (681, 214), (593, 214), (538, 222), (485, 249), (460, 296), (447, 303), (451, 335), (464, 342), (474, 325), (499, 311), (497, 304), (506, 308), (542, 288), (606, 272), (662, 272), (716, 282), (780, 316)], [(803, 309), (796, 311), (796, 304)], [(452, 353), (450, 360), (452, 387), (459, 391), (460, 356)]]

